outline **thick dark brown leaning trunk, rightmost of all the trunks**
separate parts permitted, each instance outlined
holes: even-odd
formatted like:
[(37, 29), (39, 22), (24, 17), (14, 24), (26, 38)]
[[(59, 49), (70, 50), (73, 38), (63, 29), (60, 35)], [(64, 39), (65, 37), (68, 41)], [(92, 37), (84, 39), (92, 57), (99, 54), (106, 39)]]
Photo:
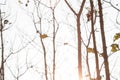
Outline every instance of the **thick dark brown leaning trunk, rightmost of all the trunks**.
[(101, 0), (98, 0), (98, 6), (99, 6), (100, 29), (101, 29), (102, 46), (103, 46), (103, 54), (104, 54), (103, 58), (104, 58), (104, 65), (105, 65), (105, 74), (106, 74), (106, 80), (110, 80)]

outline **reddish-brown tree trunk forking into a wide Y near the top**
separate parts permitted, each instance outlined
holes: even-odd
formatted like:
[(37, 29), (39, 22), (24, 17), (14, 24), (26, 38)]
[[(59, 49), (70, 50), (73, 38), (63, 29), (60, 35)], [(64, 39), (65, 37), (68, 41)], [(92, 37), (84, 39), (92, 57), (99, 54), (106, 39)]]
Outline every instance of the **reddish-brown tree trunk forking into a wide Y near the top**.
[(82, 1), (82, 4), (80, 6), (79, 12), (76, 13), (74, 9), (70, 6), (70, 4), (67, 2), (67, 0), (64, 0), (70, 10), (74, 13), (74, 15), (77, 17), (77, 40), (78, 40), (78, 76), (79, 80), (82, 80), (82, 51), (81, 51), (81, 30), (80, 30), (80, 17), (83, 11), (83, 7), (85, 5), (86, 0)]

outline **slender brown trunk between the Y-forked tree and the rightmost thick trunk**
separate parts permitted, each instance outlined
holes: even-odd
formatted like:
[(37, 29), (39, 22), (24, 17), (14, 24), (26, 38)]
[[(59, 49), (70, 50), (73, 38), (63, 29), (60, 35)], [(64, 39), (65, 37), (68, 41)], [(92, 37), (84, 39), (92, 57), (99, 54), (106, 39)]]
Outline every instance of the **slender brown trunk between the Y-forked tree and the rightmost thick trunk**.
[(93, 19), (93, 0), (90, 0), (91, 5), (91, 27), (92, 27), (92, 35), (93, 35), (93, 45), (94, 45), (94, 51), (95, 51), (95, 61), (96, 61), (96, 73), (97, 73), (97, 80), (100, 80), (100, 71), (99, 71), (99, 59), (98, 59), (98, 53), (97, 53), (97, 47), (96, 47), (96, 38), (95, 38), (95, 31), (94, 31), (94, 19)]

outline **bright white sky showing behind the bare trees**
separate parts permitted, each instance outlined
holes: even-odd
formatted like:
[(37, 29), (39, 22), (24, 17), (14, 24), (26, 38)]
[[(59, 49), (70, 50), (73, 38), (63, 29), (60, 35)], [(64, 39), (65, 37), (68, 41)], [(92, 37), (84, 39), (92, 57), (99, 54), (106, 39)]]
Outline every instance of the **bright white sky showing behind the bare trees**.
[[(6, 65), (11, 68), (13, 75), (17, 76), (18, 71), (17, 67), (20, 68), (19, 74), (23, 73), (26, 70), (27, 66), (32, 66), (22, 77), (20, 80), (45, 80), (42, 78), (43, 69), (43, 53), (39, 41), (39, 35), (36, 33), (33, 17), (31, 12), (34, 12), (33, 1), (30, 0), (28, 7), (25, 7), (26, 0), (21, 0), (23, 4), (19, 4), (18, 0), (7, 0), (7, 5), (1, 6), (3, 11), (7, 11), (6, 15), (10, 15), (7, 17), (11, 25), (6, 25), (9, 27), (9, 30), (4, 32), (4, 42), (5, 42), (5, 57), (9, 55), (9, 52), (15, 52), (22, 47), (26, 46), (25, 49), (20, 51), (17, 54), (13, 54), (8, 59)], [(42, 0), (43, 1), (43, 0)], [(47, 0), (46, 0), (47, 1)], [(119, 0), (118, 0), (119, 1)], [(76, 2), (72, 2), (73, 7), (77, 11), (79, 8), (78, 0)], [(117, 1), (116, 1), (117, 2)], [(0, 0), (0, 3), (4, 3), (4, 0)], [(45, 2), (44, 2), (45, 3)], [(77, 6), (78, 5), (78, 6)], [(63, 7), (64, 6), (64, 7)], [(88, 5), (87, 5), (88, 6)], [(109, 5), (104, 4), (104, 7), (108, 7)], [(86, 12), (86, 11), (84, 11)], [(116, 10), (113, 8), (104, 8), (104, 21), (105, 21), (105, 32), (106, 32), (106, 40), (108, 46), (108, 52), (110, 52), (110, 45), (113, 43), (114, 33), (119, 32), (117, 29), (119, 25), (113, 23), (115, 22), (114, 17), (116, 15)], [(48, 38), (44, 40), (47, 48), (48, 55), (48, 64), (50, 67), (52, 66), (52, 31), (51, 31), (51, 23), (48, 23), (46, 19), (50, 21), (51, 12), (47, 8), (41, 7), (41, 15), (43, 16), (43, 33), (48, 34)], [(44, 16), (45, 15), (45, 16)], [(83, 18), (85, 19), (85, 14), (83, 14)], [(50, 18), (49, 18), (50, 17)], [(5, 18), (6, 19), (6, 18)], [(58, 30), (57, 39), (56, 39), (56, 80), (77, 80), (77, 42), (76, 42), (76, 28), (75, 28), (75, 16), (71, 13), (71, 11), (67, 8), (63, 0), (59, 3), (56, 8), (56, 19), (58, 23), (60, 23), (60, 29)], [(36, 20), (37, 21), (37, 20)], [(82, 21), (84, 22), (84, 21)], [(70, 24), (70, 26), (69, 26)], [(81, 24), (82, 26), (89, 27), (88, 24)], [(96, 25), (96, 27), (99, 27)], [(89, 28), (88, 28), (89, 29)], [(90, 30), (90, 29), (89, 29)], [(85, 36), (85, 28), (82, 27), (82, 35)], [(99, 31), (99, 29), (98, 29)], [(87, 30), (88, 32), (88, 30)], [(98, 50), (101, 51), (101, 43), (99, 32), (97, 34), (97, 44)], [(33, 40), (29, 45), (28, 43)], [(84, 41), (87, 42), (86, 37), (83, 37)], [(68, 43), (68, 45), (64, 45), (64, 43)], [(119, 41), (117, 42), (119, 43)], [(92, 45), (90, 45), (92, 46)], [(83, 51), (84, 52), (84, 51)], [(27, 62), (26, 62), (27, 56)], [(85, 56), (84, 56), (85, 57)], [(89, 62), (93, 64), (93, 54), (90, 54)], [(117, 61), (116, 61), (117, 58)], [(119, 51), (113, 54), (110, 58), (110, 70), (114, 66), (114, 63), (119, 63), (120, 60)], [(83, 62), (85, 62), (83, 60)], [(18, 65), (18, 66), (17, 66)], [(84, 66), (85, 67), (85, 66)], [(95, 67), (95, 65), (91, 65), (91, 67)], [(113, 70), (113, 76), (120, 79), (120, 64), (116, 64)], [(94, 72), (94, 68), (92, 68), (92, 74)], [(84, 76), (86, 75), (86, 70), (83, 71)], [(18, 74), (18, 75), (19, 75)], [(10, 72), (10, 69), (6, 66), (6, 80), (15, 80), (13, 75)]]

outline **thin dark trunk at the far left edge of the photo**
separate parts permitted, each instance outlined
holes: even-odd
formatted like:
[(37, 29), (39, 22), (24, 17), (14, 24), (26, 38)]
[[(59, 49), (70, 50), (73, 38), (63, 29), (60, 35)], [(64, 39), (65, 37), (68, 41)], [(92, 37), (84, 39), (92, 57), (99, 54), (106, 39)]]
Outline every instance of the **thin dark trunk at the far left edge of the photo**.
[(0, 79), (4, 79), (4, 43), (3, 43), (3, 25), (2, 25), (2, 17), (1, 17), (1, 10), (0, 10), (0, 33), (1, 33), (1, 68), (0, 68)]

